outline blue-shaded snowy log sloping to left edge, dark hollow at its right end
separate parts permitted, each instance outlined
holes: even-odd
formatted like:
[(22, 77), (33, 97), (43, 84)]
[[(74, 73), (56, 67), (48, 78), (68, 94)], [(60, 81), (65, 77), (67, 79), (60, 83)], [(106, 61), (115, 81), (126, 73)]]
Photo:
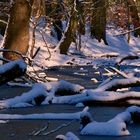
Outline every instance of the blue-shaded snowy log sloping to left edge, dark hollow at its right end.
[(40, 105), (46, 98), (47, 91), (44, 85), (35, 84), (28, 92), (20, 96), (0, 101), (0, 108), (27, 107)]

